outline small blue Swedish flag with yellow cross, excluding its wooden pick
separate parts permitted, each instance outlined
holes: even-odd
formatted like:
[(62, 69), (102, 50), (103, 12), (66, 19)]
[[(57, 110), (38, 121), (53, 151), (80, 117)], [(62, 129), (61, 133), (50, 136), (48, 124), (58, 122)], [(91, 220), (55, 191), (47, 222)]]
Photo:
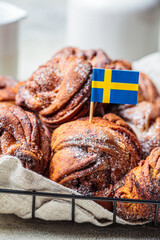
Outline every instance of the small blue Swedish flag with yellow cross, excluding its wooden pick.
[(137, 104), (139, 72), (93, 69), (91, 102)]

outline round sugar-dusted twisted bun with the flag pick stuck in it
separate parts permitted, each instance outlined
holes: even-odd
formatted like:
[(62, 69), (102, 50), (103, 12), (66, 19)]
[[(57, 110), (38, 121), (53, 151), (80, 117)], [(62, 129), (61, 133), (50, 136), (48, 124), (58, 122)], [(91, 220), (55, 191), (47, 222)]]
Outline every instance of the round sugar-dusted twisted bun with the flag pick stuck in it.
[[(133, 130), (118, 116), (78, 119), (52, 134), (49, 178), (82, 194), (110, 189), (142, 157)], [(123, 166), (123, 167), (122, 167)]]

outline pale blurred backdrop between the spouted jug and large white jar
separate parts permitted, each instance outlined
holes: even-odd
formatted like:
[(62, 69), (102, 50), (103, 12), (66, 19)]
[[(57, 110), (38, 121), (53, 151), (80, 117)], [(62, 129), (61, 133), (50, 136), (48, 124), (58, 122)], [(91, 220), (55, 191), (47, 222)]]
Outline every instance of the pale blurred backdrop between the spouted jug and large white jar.
[(66, 0), (7, 0), (27, 11), (20, 23), (18, 79), (28, 79), (65, 46)]

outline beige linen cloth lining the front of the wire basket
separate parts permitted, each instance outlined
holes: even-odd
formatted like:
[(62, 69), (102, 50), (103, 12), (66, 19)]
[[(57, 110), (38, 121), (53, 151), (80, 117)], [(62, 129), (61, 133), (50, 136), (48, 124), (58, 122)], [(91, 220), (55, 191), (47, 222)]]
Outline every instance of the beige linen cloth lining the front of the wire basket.
[[(0, 188), (77, 194), (35, 172), (23, 168), (20, 160), (12, 156), (0, 158)], [(91, 200), (76, 200), (75, 221), (90, 222), (97, 226), (112, 223), (113, 214)], [(32, 216), (32, 196), (0, 193), (0, 213), (15, 214), (21, 218)], [(71, 220), (71, 200), (36, 197), (35, 217), (44, 220)], [(126, 224), (117, 218), (117, 222)]]

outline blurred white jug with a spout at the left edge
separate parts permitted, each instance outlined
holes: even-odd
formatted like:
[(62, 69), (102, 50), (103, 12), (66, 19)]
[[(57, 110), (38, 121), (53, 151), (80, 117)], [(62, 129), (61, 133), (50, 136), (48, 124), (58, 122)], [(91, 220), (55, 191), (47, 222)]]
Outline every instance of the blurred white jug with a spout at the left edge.
[(26, 12), (0, 2), (0, 75), (17, 77), (19, 21)]

